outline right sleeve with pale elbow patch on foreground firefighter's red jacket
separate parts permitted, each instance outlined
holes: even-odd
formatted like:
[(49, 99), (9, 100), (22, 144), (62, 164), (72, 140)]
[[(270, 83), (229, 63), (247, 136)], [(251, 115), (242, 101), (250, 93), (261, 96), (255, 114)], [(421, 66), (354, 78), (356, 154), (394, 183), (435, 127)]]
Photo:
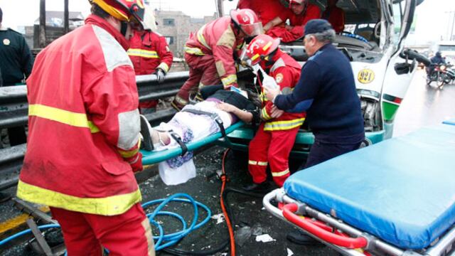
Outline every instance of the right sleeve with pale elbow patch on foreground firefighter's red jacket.
[(85, 92), (87, 114), (130, 164), (139, 158), (139, 99), (134, 70), (120, 65), (102, 73)]

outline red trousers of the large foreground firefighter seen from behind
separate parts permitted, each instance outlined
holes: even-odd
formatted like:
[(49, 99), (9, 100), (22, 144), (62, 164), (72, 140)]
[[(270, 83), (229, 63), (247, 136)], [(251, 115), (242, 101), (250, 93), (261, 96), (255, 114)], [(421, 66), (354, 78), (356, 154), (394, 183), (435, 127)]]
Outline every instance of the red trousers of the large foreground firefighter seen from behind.
[(104, 216), (50, 207), (62, 227), (68, 256), (155, 255), (149, 219), (137, 203), (127, 212)]

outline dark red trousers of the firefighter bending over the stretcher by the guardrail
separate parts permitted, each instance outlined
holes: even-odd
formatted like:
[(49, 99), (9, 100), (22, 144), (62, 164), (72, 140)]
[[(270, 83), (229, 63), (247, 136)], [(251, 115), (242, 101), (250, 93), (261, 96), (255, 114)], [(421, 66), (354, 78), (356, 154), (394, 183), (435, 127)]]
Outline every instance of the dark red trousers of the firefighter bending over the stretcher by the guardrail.
[(185, 53), (185, 60), (190, 67), (190, 77), (177, 92), (176, 100), (181, 105), (188, 103), (191, 91), (205, 85), (219, 85), (221, 83), (213, 55), (192, 55)]

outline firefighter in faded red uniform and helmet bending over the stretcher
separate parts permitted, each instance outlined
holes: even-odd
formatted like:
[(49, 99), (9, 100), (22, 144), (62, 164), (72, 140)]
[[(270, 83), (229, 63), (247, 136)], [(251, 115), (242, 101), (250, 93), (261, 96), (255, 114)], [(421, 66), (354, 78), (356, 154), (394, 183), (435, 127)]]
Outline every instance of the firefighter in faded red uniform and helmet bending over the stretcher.
[(247, 37), (262, 33), (262, 24), (250, 9), (232, 10), (191, 34), (185, 45), (185, 60), (190, 77), (172, 102), (180, 110), (188, 104), (190, 92), (205, 85), (223, 83), (225, 89), (237, 87), (234, 53)]

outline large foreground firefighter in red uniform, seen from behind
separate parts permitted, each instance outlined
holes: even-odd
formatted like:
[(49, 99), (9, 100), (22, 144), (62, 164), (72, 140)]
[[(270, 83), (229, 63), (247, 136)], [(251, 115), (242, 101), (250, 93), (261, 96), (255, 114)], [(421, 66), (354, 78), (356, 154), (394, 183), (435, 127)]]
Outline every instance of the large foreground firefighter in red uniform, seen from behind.
[(138, 94), (127, 55), (141, 0), (91, 0), (85, 26), (41, 50), (27, 80), (17, 196), (50, 206), (68, 255), (155, 255), (134, 171)]

